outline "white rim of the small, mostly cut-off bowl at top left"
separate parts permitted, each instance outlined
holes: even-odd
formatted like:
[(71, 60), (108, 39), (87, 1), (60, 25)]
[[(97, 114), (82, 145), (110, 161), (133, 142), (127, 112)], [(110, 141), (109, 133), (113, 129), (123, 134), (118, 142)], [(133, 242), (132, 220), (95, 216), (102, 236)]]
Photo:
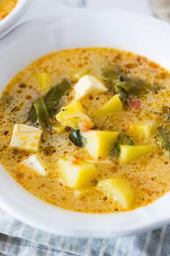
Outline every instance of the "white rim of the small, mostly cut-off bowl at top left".
[(22, 17), (32, 0), (19, 0), (16, 7), (3, 20), (0, 21), (0, 38), (12, 28), (15, 22)]

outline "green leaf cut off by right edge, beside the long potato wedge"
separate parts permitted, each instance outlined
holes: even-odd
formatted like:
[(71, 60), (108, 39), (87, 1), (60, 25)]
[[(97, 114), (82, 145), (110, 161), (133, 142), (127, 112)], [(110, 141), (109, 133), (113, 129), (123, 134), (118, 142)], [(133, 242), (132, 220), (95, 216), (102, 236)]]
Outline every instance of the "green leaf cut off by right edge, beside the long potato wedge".
[(170, 132), (165, 127), (158, 127), (158, 140), (161, 148), (169, 151), (170, 153)]

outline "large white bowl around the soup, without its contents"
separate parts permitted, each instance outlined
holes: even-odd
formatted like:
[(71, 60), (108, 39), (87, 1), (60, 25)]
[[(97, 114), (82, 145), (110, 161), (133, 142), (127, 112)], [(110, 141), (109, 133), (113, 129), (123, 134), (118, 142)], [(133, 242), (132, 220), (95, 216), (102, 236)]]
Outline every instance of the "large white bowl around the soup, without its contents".
[[(170, 70), (170, 27), (154, 18), (122, 11), (77, 10), (27, 22), (0, 42), (1, 90), (14, 74), (51, 51), (107, 46), (147, 56)], [(170, 222), (170, 193), (126, 213), (75, 213), (42, 202), (0, 168), (0, 206), (12, 216), (53, 234), (114, 237)]]

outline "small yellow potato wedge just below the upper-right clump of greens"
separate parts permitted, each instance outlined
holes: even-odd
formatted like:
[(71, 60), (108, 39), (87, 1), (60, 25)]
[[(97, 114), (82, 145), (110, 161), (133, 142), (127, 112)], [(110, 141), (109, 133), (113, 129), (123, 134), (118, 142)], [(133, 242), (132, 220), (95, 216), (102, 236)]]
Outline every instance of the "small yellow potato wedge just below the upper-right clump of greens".
[(119, 96), (114, 95), (101, 109), (97, 111), (99, 114), (117, 113), (122, 111), (122, 102)]

